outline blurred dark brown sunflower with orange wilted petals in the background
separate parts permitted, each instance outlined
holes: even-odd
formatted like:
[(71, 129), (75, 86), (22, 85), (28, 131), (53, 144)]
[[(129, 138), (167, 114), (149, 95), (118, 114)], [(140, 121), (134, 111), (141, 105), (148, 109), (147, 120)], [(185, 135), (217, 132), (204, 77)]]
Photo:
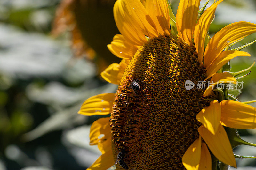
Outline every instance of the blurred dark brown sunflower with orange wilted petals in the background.
[[(63, 0), (56, 10), (52, 35), (71, 33), (74, 57), (87, 59), (103, 71), (108, 64), (119, 62), (106, 44), (118, 33), (113, 18), (116, 0)], [(100, 41), (99, 41), (100, 40)]]

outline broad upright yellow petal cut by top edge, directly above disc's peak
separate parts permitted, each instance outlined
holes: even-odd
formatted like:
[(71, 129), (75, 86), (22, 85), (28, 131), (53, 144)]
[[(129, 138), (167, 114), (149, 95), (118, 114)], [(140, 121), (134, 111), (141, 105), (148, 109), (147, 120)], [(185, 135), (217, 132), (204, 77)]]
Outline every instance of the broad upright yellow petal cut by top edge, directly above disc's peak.
[(166, 0), (152, 0), (146, 1), (145, 8), (152, 18), (157, 32), (161, 35), (170, 35), (170, 16)]

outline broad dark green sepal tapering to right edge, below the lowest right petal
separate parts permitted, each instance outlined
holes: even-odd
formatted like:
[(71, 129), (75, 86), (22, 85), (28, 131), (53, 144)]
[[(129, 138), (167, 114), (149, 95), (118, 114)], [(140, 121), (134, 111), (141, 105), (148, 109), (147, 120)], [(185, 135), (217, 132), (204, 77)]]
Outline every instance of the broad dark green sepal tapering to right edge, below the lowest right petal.
[(230, 141), (232, 148), (235, 148), (236, 146), (241, 145), (241, 144), (256, 147), (256, 144), (252, 144), (250, 142), (246, 142), (245, 140), (243, 140), (239, 136), (238, 131), (236, 129), (225, 127), (225, 130), (227, 132), (228, 139)]

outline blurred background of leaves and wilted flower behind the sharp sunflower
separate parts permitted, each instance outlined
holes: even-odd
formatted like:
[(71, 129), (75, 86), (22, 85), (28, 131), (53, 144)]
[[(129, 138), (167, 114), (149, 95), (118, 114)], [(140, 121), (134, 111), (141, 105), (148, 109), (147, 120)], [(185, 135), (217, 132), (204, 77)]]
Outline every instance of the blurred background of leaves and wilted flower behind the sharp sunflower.
[[(59, 7), (60, 0), (0, 0), (0, 170), (82, 170), (99, 157), (97, 146), (89, 146), (89, 129), (100, 116), (77, 111), (90, 96), (115, 92), (117, 86), (98, 75), (120, 59), (106, 48), (118, 33), (112, 16), (115, 0), (93, 1), (65, 0), (68, 15), (77, 21), (53, 33), (56, 9), (67, 13)], [(178, 3), (172, 0), (174, 13)], [(255, 0), (221, 3), (209, 32), (213, 35), (236, 21), (256, 23)], [(76, 54), (72, 38), (77, 31), (82, 37), (79, 42), (89, 47), (79, 48), (86, 52)], [(255, 39), (252, 34), (236, 46)], [(231, 71), (243, 70), (256, 59), (256, 44), (244, 51), (252, 57), (233, 59)], [(256, 67), (242, 80), (239, 100), (256, 100)], [(240, 130), (240, 134), (256, 143), (256, 130)], [(256, 148), (239, 146), (235, 153), (256, 156)], [(237, 164), (243, 169), (256, 166), (256, 161), (237, 159)]]

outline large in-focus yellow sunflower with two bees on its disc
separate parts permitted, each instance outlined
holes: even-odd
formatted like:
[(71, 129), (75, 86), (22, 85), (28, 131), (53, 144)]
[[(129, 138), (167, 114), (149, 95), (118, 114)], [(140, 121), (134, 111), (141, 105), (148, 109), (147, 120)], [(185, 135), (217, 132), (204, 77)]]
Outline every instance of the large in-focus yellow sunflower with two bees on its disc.
[[(229, 47), (255, 33), (256, 25), (232, 23), (210, 39), (208, 29), (222, 1), (204, 11), (208, 2), (199, 10), (200, 0), (180, 0), (177, 18), (166, 0), (116, 1), (121, 34), (108, 49), (122, 61), (101, 76), (118, 89), (85, 100), (78, 112), (111, 113), (92, 123), (90, 144), (102, 155), (88, 169), (108, 169), (124, 152), (117, 169), (236, 167), (227, 131), (256, 128), (256, 108), (218, 85), (237, 83), (243, 71), (231, 73), (228, 62), (250, 54)], [(185, 88), (186, 81), (207, 80), (205, 88)]]

